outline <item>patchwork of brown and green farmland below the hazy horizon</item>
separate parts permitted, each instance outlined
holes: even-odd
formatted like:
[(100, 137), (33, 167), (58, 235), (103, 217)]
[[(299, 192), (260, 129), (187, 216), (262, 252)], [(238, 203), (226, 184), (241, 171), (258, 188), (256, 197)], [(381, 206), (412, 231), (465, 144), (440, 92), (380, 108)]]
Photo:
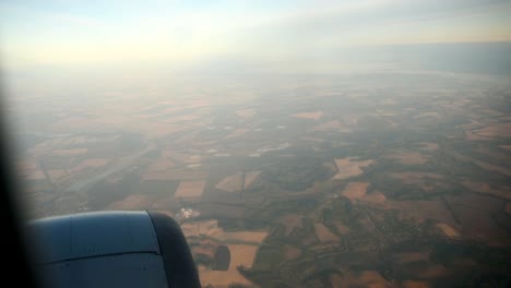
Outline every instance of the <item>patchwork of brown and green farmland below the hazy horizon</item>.
[[(233, 77), (28, 111), (48, 121), (23, 135), (27, 217), (173, 215), (210, 287), (511, 283), (506, 80)], [(214, 269), (218, 247), (227, 271)]]

